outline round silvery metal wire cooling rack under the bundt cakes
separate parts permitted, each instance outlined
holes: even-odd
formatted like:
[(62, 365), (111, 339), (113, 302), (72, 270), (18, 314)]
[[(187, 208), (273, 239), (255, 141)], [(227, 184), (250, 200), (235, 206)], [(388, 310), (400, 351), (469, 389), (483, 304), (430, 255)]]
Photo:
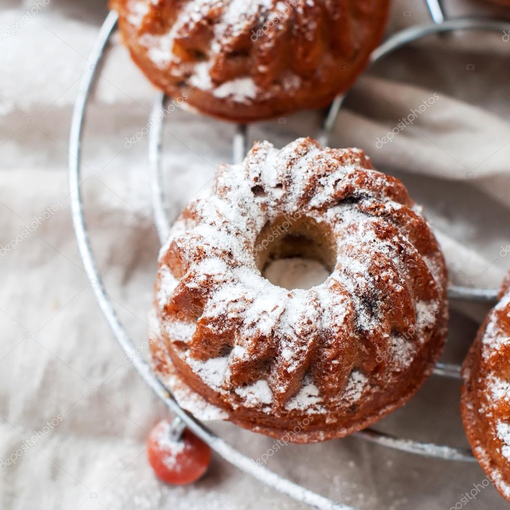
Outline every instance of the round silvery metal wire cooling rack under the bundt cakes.
[[(396, 49), (410, 44), (433, 34), (455, 32), (460, 30), (486, 30), (500, 32), (503, 35), (509, 33), (510, 23), (495, 19), (486, 18), (456, 18), (445, 19), (444, 11), (439, 0), (426, 0), (432, 23), (420, 25), (403, 30), (391, 36), (374, 50), (370, 64), (373, 64)], [(95, 298), (99, 307), (120, 346), (126, 354), (136, 349), (135, 342), (131, 339), (123, 324), (119, 320), (111, 299), (109, 298), (100, 273), (94, 259), (90, 242), (88, 239), (87, 226), (84, 218), (84, 204), (82, 190), (80, 187), (81, 178), (81, 150), (83, 127), (86, 110), (90, 98), (90, 91), (96, 78), (96, 69), (105, 58), (105, 49), (117, 24), (117, 14), (111, 12), (101, 27), (95, 41), (92, 52), (89, 56), (89, 64), (80, 82), (78, 96), (72, 114), (70, 137), (69, 137), (69, 186), (71, 200), (71, 214), (78, 247), (83, 260), (85, 271), (91, 281)], [(334, 129), (337, 116), (345, 99), (339, 95), (331, 104), (325, 117), (324, 124), (318, 139), (323, 145), (327, 145), (329, 134)], [(151, 110), (150, 120), (158, 118), (163, 112), (166, 104), (166, 97), (158, 93)], [(162, 118), (162, 117), (160, 117)], [(149, 167), (151, 173), (151, 198), (154, 211), (154, 220), (158, 227), (160, 240), (166, 240), (169, 231), (169, 220), (165, 209), (165, 194), (163, 185), (163, 172), (161, 166), (161, 154), (163, 151), (163, 126), (161, 122), (152, 122), (154, 129), (149, 135)], [(238, 161), (244, 157), (247, 149), (247, 126), (239, 125), (233, 138), (233, 157)], [(492, 302), (496, 300), (497, 291), (493, 289), (475, 289), (468, 287), (452, 286), (448, 289), (450, 299)], [(249, 473), (254, 478), (265, 483), (267, 486), (276, 489), (295, 500), (306, 503), (313, 508), (321, 510), (355, 510), (352, 506), (336, 503), (324, 496), (321, 496), (309, 489), (305, 489), (297, 483), (284, 478), (264, 466), (257, 466), (252, 469), (253, 460), (238, 451), (236, 448), (225, 442), (221, 437), (209, 430), (203, 423), (188, 414), (176, 402), (171, 392), (152, 372), (148, 363), (141, 357), (133, 358), (133, 365), (150, 388), (165, 402), (168, 409), (175, 416), (173, 428), (181, 431), (184, 426), (189, 427), (198, 437), (205, 441), (213, 450), (221, 455), (240, 470)], [(438, 363), (434, 372), (435, 375), (460, 379), (460, 367), (453, 364)], [(425, 455), (428, 457), (442, 458), (449, 461), (474, 462), (471, 450), (467, 448), (454, 448), (450, 446), (437, 445), (433, 443), (420, 443), (409, 439), (403, 439), (379, 432), (373, 429), (365, 429), (356, 432), (355, 436), (387, 446), (397, 450)]]

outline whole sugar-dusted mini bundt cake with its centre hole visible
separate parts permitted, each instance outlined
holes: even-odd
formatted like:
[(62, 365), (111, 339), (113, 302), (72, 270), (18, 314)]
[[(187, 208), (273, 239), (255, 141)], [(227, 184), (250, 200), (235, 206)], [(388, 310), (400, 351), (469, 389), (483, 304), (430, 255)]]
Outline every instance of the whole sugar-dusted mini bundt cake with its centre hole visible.
[[(330, 275), (276, 287), (268, 261), (302, 257)], [(338, 438), (408, 400), (446, 338), (447, 274), (400, 181), (359, 149), (257, 143), (220, 166), (161, 249), (155, 307), (169, 364), (231, 421), (291, 441)]]

